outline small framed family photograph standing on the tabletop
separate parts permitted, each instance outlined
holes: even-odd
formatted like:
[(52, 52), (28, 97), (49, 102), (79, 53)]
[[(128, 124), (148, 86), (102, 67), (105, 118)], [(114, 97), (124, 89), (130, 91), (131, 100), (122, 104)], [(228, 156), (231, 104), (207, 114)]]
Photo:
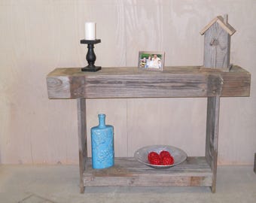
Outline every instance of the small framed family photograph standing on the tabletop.
[(164, 52), (139, 51), (138, 68), (148, 71), (163, 71)]

